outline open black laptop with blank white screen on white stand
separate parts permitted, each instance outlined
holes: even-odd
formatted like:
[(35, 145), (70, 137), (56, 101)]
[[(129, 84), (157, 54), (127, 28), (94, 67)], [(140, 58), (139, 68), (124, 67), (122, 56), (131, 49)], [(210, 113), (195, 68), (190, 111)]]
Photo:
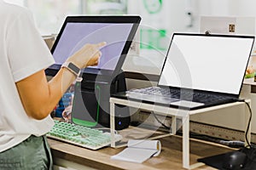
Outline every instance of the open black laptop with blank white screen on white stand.
[(157, 87), (113, 97), (195, 110), (236, 102), (253, 36), (174, 33)]

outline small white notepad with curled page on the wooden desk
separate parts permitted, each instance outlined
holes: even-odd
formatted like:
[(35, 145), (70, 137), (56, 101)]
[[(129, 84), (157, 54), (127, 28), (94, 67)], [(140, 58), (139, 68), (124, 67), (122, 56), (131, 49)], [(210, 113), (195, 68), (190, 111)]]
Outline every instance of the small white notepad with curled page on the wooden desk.
[(119, 154), (111, 156), (111, 159), (142, 163), (152, 156), (159, 156), (160, 150), (159, 140), (131, 139), (128, 141), (127, 148)]

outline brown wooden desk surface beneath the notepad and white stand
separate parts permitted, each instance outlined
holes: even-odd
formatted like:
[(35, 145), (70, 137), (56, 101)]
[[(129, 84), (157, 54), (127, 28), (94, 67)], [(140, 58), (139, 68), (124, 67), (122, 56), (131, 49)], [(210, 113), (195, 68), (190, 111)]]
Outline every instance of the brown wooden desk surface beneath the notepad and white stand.
[[(93, 167), (96, 169), (132, 169), (132, 170), (160, 170), (160, 169), (183, 169), (183, 152), (182, 138), (180, 136), (169, 136), (160, 139), (162, 150), (160, 156), (152, 157), (148, 161), (140, 163), (132, 163), (128, 161), (111, 160), (110, 157), (119, 153), (124, 148), (113, 149), (103, 148), (101, 150), (87, 150), (73, 144), (63, 143), (54, 139), (48, 139), (52, 151), (54, 162), (56, 159), (66, 160), (69, 162), (78, 163), (83, 168)], [(197, 163), (198, 158), (206, 156), (214, 156), (230, 151), (220, 144), (204, 142), (197, 139), (190, 139), (190, 162)], [(69, 166), (71, 168), (71, 165)], [(195, 169), (213, 170), (213, 167), (197, 167)]]

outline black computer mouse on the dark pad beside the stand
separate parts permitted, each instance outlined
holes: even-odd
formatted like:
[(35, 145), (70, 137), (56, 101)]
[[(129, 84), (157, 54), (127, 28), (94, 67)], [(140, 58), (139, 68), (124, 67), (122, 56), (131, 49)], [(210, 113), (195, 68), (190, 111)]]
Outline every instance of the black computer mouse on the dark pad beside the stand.
[(241, 151), (233, 151), (224, 156), (225, 169), (241, 169), (244, 167), (247, 155)]

